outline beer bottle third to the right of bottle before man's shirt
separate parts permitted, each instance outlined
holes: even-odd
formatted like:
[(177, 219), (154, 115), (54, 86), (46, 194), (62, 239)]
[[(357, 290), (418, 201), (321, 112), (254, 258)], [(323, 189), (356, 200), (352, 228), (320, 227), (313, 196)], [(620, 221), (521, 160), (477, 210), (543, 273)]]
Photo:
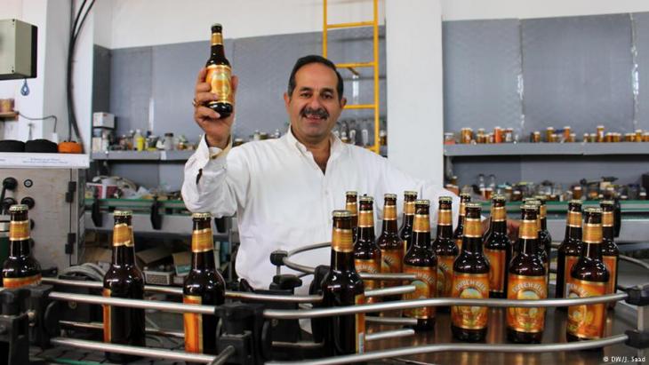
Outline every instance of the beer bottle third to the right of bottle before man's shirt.
[[(381, 249), (381, 273), (400, 274), (403, 268), (403, 242), (397, 231), (397, 194), (385, 194), (383, 204), (383, 227), (376, 244)], [(381, 282), (382, 288), (398, 286), (397, 281)], [(384, 300), (398, 300), (401, 296), (384, 297)]]

